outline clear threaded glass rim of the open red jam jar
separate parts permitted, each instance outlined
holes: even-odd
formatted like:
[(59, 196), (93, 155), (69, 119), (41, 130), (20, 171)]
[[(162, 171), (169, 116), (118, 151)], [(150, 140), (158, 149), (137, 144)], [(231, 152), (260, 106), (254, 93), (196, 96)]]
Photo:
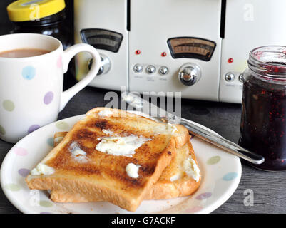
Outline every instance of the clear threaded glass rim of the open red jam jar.
[(250, 51), (248, 67), (267, 81), (286, 82), (286, 46), (262, 46)]

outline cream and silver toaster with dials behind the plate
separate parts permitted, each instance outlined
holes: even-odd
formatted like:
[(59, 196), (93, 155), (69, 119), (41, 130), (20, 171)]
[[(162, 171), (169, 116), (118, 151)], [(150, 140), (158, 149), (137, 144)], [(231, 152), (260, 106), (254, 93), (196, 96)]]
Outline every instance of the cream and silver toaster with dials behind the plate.
[[(101, 53), (90, 86), (241, 103), (257, 46), (286, 45), (285, 0), (75, 0), (75, 38)], [(76, 58), (80, 80), (90, 56)]]

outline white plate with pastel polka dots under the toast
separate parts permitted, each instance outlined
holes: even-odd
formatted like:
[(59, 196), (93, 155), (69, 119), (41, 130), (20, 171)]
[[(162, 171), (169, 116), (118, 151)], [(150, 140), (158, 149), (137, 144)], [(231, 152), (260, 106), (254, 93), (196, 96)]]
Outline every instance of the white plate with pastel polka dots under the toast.
[[(1, 187), (6, 197), (21, 212), (131, 213), (108, 202), (55, 203), (49, 199), (48, 192), (29, 190), (26, 185), (26, 175), (53, 148), (54, 133), (70, 130), (83, 116), (67, 118), (34, 131), (6, 155), (1, 166)], [(240, 159), (199, 138), (192, 138), (190, 142), (202, 175), (198, 191), (190, 197), (145, 200), (136, 213), (210, 213), (233, 195), (241, 177)]]

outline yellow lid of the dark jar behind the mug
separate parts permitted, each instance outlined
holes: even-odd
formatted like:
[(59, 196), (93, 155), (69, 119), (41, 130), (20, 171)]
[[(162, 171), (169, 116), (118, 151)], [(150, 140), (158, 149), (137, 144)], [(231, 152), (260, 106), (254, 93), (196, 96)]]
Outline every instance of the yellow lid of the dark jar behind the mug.
[(64, 0), (19, 0), (7, 7), (10, 21), (35, 21), (65, 9)]

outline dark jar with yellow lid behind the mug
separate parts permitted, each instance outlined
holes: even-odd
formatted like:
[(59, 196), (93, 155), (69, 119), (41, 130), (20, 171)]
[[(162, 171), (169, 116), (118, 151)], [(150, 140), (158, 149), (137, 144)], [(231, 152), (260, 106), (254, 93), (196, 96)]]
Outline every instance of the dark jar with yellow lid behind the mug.
[(11, 33), (40, 33), (58, 38), (63, 49), (73, 44), (73, 31), (66, 23), (64, 0), (21, 0), (7, 7)]

